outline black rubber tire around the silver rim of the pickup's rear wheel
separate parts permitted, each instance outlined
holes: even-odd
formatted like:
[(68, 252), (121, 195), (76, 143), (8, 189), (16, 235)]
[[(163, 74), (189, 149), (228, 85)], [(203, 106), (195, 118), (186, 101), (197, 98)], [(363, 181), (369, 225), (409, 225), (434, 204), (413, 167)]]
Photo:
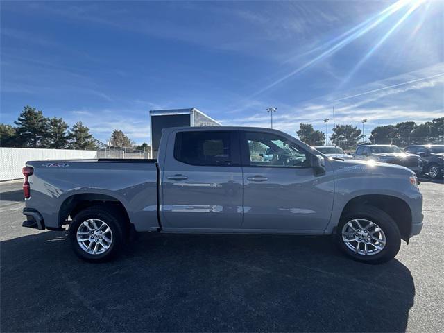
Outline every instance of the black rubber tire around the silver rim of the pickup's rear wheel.
[[(102, 248), (105, 250), (103, 253), (87, 253), (77, 241), (77, 231), (80, 225), (90, 219), (103, 221), (111, 230), (112, 237), (110, 237), (110, 239), (112, 239), (112, 241), (109, 244), (109, 248), (105, 250), (105, 248), (100, 246), (101, 250)], [(106, 262), (114, 258), (119, 253), (119, 250), (121, 249), (123, 241), (126, 237), (126, 228), (125, 223), (123, 223), (123, 216), (119, 210), (115, 210), (114, 207), (110, 206), (98, 205), (87, 207), (78, 212), (72, 219), (71, 225), (69, 225), (68, 235), (74, 253), (76, 253), (78, 257), (86, 260), (87, 262)]]

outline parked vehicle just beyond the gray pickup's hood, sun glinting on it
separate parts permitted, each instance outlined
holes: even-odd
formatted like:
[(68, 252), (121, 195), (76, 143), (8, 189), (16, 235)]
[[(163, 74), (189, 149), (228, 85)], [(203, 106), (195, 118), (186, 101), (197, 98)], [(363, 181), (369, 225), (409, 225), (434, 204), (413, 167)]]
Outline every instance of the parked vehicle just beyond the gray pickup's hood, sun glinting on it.
[(404, 153), (398, 146), (392, 144), (359, 144), (355, 151), (355, 158), (398, 164), (417, 174), (422, 173), (422, 160), (419, 155)]

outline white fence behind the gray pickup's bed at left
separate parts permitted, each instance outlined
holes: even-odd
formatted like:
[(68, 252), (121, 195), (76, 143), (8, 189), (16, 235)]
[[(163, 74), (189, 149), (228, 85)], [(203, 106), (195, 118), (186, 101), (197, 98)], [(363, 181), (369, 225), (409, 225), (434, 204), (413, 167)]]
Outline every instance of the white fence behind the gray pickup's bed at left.
[(71, 149), (2, 148), (0, 147), (0, 181), (23, 178), (22, 168), (32, 160), (72, 160), (97, 158), (96, 151)]

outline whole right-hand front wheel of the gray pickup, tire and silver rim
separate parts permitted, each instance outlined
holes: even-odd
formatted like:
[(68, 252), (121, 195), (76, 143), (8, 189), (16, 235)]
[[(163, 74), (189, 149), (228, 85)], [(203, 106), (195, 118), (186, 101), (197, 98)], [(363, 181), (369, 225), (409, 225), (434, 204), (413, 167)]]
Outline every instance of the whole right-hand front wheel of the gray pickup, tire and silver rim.
[(368, 264), (388, 262), (398, 254), (401, 235), (395, 221), (370, 205), (359, 205), (344, 214), (336, 240), (343, 252)]

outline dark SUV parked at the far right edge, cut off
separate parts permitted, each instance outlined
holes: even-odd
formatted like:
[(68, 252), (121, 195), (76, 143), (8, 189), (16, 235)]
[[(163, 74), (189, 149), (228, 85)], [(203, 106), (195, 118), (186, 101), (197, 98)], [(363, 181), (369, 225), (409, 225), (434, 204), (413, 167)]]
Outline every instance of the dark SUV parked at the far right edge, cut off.
[(406, 153), (418, 154), (422, 159), (422, 172), (430, 178), (444, 175), (444, 144), (416, 144), (404, 148)]

